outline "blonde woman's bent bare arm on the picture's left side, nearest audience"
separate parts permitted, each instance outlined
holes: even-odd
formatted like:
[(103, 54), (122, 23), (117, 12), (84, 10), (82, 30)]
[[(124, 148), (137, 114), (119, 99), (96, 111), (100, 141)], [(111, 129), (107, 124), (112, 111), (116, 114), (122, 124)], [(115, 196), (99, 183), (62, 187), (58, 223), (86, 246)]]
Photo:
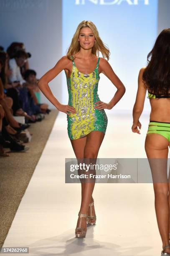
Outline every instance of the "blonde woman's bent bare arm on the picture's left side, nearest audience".
[(68, 59), (66, 56), (63, 56), (56, 65), (48, 70), (41, 79), (38, 81), (38, 87), (40, 88), (41, 92), (47, 97), (47, 99), (61, 112), (66, 113), (67, 112), (75, 113), (75, 108), (69, 105), (63, 105), (61, 104), (56, 97), (54, 97), (53, 93), (50, 90), (50, 87), (48, 85), (51, 80), (53, 80), (63, 69), (68, 69)]

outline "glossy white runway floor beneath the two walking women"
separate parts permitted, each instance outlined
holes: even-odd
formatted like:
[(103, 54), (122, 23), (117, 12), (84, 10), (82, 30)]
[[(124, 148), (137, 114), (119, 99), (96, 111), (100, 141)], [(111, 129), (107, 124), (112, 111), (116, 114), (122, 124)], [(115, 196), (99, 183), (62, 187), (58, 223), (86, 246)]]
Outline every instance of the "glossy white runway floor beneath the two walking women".
[[(138, 135), (131, 131), (132, 113), (106, 113), (98, 157), (145, 158), (149, 115), (140, 118)], [(65, 183), (65, 158), (75, 158), (66, 127), (66, 114), (59, 113), (3, 247), (27, 246), (30, 256), (160, 256), (152, 184), (96, 184), (96, 225), (86, 238), (75, 238), (81, 184)]]

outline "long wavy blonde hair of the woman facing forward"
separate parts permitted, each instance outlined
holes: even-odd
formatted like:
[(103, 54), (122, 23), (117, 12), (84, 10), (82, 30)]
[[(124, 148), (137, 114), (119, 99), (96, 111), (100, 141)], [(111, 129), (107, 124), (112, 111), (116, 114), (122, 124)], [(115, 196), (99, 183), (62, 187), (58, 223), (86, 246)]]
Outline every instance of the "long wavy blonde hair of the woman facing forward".
[(79, 33), (80, 33), (81, 28), (86, 28), (86, 27), (91, 28), (92, 32), (94, 33), (94, 37), (95, 37), (95, 43), (94, 43), (91, 53), (99, 57), (99, 51), (100, 51), (103, 58), (107, 58), (107, 60), (109, 60), (110, 51), (109, 51), (108, 47), (102, 42), (101, 38), (99, 37), (99, 32), (97, 31), (96, 26), (90, 20), (81, 21), (81, 23), (77, 27), (76, 32), (74, 33), (74, 36), (71, 40), (69, 49), (66, 53), (67, 58), (72, 60), (73, 59), (72, 56), (74, 56), (74, 54), (76, 54), (78, 51), (80, 51), (80, 43), (78, 41)]

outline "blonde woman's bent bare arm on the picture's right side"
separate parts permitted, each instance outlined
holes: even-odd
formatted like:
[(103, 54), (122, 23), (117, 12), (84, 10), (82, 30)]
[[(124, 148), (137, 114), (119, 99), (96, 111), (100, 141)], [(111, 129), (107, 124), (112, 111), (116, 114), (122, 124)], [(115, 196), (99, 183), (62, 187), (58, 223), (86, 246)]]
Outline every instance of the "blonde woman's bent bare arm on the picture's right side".
[(117, 75), (114, 73), (112, 67), (106, 59), (100, 58), (99, 69), (101, 73), (108, 77), (110, 81), (114, 84), (114, 86), (117, 88), (117, 92), (115, 93), (114, 97), (109, 103), (105, 103), (100, 100), (95, 102), (98, 103), (95, 108), (99, 110), (104, 108), (112, 109), (117, 104), (117, 102), (119, 102), (119, 100), (123, 97), (126, 89), (124, 87), (124, 84), (120, 81), (119, 77), (117, 77)]

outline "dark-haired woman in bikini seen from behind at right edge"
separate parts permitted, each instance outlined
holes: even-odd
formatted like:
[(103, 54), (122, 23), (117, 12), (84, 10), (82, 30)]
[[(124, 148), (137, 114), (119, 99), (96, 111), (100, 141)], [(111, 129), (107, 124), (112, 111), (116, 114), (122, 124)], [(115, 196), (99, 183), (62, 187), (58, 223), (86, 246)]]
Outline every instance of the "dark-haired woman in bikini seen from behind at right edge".
[(161, 255), (170, 256), (170, 182), (167, 177), (170, 147), (170, 28), (164, 29), (157, 37), (147, 61), (147, 67), (140, 69), (139, 73), (132, 131), (140, 134), (139, 118), (148, 91), (151, 113), (145, 151), (152, 172), (157, 224), (163, 244)]

